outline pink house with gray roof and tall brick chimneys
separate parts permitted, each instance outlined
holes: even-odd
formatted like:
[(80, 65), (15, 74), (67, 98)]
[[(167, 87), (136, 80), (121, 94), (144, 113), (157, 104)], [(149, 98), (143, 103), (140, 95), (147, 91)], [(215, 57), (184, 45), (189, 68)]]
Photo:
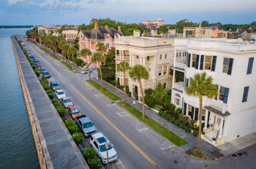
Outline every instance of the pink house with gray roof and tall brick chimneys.
[[(121, 26), (118, 26), (118, 30), (114, 28), (108, 28), (108, 25), (98, 26), (98, 20), (94, 21), (94, 28), (91, 30), (81, 30), (78, 33), (79, 37), (79, 50), (77, 56), (87, 63), (87, 60), (80, 56), (80, 51), (83, 48), (88, 48), (92, 55), (96, 52), (96, 45), (99, 42), (104, 43), (107, 46), (107, 52), (109, 48), (114, 47), (114, 37), (122, 36)], [(91, 59), (91, 56), (89, 57)], [(89, 61), (91, 63), (91, 60)], [(98, 68), (99, 66), (91, 63), (90, 68)]]

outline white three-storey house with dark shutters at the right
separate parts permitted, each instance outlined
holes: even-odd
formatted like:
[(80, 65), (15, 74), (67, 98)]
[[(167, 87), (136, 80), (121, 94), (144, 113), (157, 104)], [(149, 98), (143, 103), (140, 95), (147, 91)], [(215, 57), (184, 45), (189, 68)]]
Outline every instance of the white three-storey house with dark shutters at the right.
[(189, 87), (189, 78), (206, 72), (218, 85), (218, 97), (203, 96), (202, 122), (206, 132), (203, 139), (212, 143), (216, 137), (220, 145), (256, 132), (255, 41), (175, 39), (174, 44), (175, 48), (187, 52), (185, 64), (174, 57), (174, 75), (176, 71), (184, 72), (182, 82), (173, 78), (171, 103), (176, 108), (182, 108), (184, 115), (198, 121), (199, 99), (184, 90)]

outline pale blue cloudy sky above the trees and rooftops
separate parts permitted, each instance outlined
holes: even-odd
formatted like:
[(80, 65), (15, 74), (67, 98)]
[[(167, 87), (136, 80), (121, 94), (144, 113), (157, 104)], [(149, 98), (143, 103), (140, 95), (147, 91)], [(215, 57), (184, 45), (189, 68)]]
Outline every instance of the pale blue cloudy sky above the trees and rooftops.
[(137, 24), (158, 18), (165, 24), (250, 24), (256, 0), (0, 0), (0, 25), (81, 25), (106, 17)]

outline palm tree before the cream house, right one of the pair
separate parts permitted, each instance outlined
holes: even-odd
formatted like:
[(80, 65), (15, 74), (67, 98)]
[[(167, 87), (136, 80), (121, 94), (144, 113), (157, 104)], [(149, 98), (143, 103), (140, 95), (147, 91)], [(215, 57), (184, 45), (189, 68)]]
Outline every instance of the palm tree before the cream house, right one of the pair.
[(148, 72), (142, 65), (135, 65), (133, 68), (131, 68), (129, 72), (130, 78), (132, 78), (134, 81), (139, 82), (140, 92), (142, 94), (142, 118), (145, 117), (145, 109), (144, 109), (144, 92), (142, 88), (142, 79), (148, 79)]

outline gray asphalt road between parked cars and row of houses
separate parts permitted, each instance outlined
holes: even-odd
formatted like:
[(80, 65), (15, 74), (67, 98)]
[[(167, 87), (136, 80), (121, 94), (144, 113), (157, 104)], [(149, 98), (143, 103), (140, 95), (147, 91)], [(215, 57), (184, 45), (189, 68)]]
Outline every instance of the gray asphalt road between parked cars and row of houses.
[[(19, 37), (56, 80), (73, 104), (86, 114), (114, 146), (118, 168), (206, 168), (206, 163), (183, 153), (176, 145), (86, 84), (87, 74), (71, 72), (58, 60)], [(91, 73), (96, 77), (97, 73)], [(213, 166), (211, 163), (210, 166)]]

